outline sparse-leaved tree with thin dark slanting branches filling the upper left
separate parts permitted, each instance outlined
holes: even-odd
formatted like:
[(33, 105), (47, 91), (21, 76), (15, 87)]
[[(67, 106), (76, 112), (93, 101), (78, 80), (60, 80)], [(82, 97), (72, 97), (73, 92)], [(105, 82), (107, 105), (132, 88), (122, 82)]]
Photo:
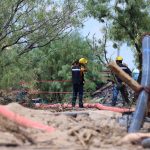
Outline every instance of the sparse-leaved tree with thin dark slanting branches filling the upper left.
[(0, 54), (17, 48), (18, 56), (44, 47), (80, 23), (78, 0), (1, 0)]

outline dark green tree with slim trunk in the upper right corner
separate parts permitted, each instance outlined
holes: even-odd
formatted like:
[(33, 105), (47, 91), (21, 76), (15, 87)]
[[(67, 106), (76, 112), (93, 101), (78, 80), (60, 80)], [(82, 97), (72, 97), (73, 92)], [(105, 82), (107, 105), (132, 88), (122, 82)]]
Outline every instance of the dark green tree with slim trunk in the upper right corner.
[(140, 69), (142, 67), (140, 37), (150, 30), (149, 8), (149, 0), (88, 0), (86, 3), (89, 16), (102, 23), (109, 23), (111, 40), (118, 43), (130, 42), (134, 47)]

